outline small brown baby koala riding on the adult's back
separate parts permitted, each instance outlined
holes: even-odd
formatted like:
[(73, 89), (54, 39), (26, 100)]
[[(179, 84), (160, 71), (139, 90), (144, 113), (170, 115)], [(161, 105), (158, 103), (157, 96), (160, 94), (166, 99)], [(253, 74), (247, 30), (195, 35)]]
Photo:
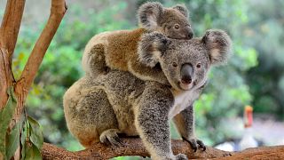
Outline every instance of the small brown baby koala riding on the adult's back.
[(93, 36), (83, 52), (83, 69), (96, 77), (108, 68), (130, 71), (142, 80), (169, 84), (161, 68), (147, 67), (138, 61), (138, 41), (147, 32), (157, 31), (174, 39), (191, 39), (193, 30), (184, 5), (165, 8), (160, 3), (149, 2), (138, 9), (142, 28), (104, 32)]

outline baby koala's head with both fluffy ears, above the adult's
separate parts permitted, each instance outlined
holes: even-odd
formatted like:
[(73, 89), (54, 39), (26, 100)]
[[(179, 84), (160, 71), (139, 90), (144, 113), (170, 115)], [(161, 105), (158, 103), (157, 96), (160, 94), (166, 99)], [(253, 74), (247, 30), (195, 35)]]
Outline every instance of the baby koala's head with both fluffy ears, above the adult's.
[(158, 31), (173, 39), (193, 38), (185, 5), (165, 8), (157, 2), (142, 4), (138, 9), (138, 21), (143, 28)]

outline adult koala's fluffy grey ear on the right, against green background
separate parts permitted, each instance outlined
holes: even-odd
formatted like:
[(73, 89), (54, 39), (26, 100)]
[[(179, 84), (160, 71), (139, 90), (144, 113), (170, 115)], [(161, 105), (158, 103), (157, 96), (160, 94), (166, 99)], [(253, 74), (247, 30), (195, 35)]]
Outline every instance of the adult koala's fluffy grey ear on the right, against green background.
[(201, 41), (209, 50), (211, 64), (224, 63), (232, 50), (232, 40), (223, 30), (210, 29)]

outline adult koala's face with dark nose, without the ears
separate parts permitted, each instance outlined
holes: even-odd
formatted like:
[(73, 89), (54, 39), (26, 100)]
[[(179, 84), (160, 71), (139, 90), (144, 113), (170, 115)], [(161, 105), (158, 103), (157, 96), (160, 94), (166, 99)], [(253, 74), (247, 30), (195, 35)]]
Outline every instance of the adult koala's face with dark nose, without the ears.
[(209, 52), (199, 39), (171, 40), (159, 62), (169, 83), (177, 90), (205, 84), (210, 67)]

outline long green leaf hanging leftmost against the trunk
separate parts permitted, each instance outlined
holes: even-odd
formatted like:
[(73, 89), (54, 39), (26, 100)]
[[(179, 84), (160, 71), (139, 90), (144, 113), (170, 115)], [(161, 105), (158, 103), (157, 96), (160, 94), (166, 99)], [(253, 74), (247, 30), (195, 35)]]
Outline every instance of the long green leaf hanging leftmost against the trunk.
[(7, 92), (8, 92), (9, 98), (7, 100), (5, 107), (1, 109), (0, 111), (0, 122), (1, 122), (0, 135), (2, 135), (0, 136), (0, 152), (2, 153), (2, 156), (4, 156), (4, 158), (6, 158), (5, 156), (6, 136), (3, 136), (3, 135), (6, 135), (8, 126), (12, 120), (13, 112), (17, 106), (17, 99), (16, 99), (16, 96), (14, 95), (13, 87), (9, 87)]

